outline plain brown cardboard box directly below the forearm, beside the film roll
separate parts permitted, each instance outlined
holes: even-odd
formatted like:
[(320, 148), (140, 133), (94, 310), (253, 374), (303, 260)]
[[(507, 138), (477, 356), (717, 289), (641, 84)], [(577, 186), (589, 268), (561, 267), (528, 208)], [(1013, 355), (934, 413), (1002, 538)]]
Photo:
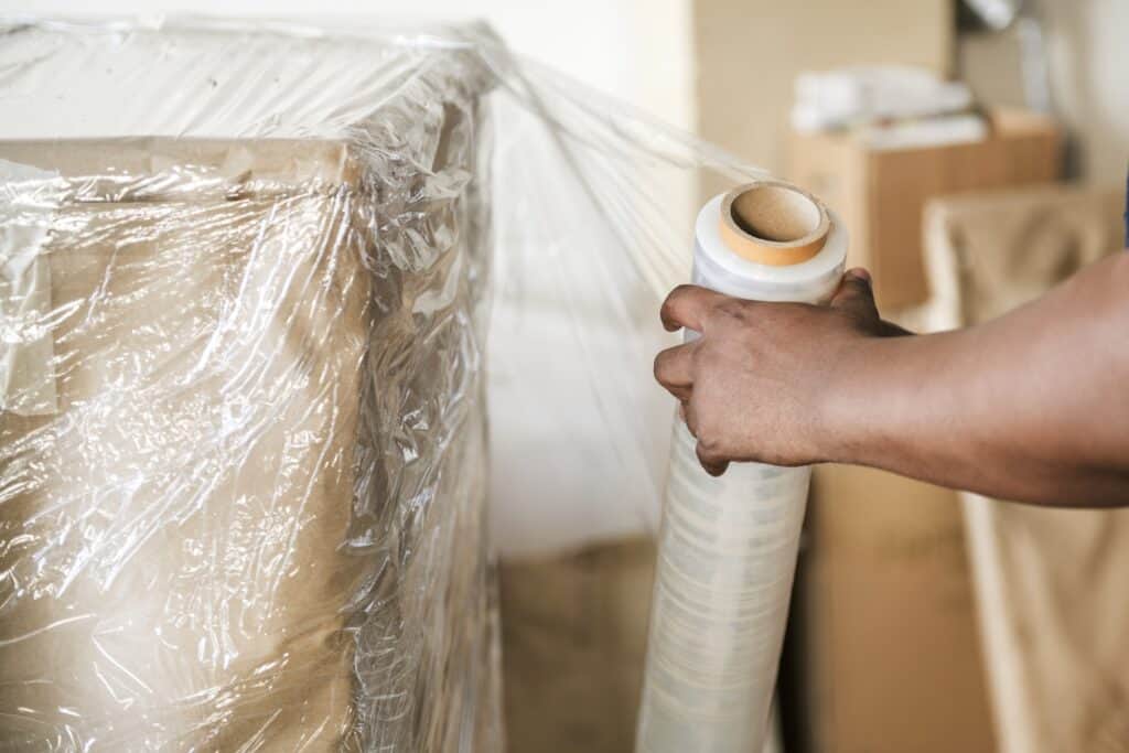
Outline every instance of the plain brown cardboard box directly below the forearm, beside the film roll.
[(995, 750), (955, 492), (817, 467), (789, 631), (789, 750)]

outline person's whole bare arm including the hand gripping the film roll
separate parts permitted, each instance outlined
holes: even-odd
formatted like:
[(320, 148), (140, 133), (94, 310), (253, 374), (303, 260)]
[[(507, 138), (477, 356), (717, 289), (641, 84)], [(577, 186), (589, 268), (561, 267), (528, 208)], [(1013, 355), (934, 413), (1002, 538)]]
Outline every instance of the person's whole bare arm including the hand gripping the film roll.
[(676, 288), (655, 376), (682, 402), (707, 471), (730, 462), (869, 465), (1056, 506), (1129, 505), (1129, 254), (984, 324), (910, 335), (869, 275), (830, 306)]

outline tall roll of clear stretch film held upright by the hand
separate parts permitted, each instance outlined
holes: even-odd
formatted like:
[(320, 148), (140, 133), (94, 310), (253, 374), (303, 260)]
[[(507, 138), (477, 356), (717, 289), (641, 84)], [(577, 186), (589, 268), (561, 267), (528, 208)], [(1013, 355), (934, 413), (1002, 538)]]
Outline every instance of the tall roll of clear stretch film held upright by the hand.
[[(823, 303), (846, 255), (832, 212), (764, 181), (702, 208), (693, 279), (741, 298)], [(760, 753), (811, 469), (735, 464), (715, 479), (694, 445), (677, 421), (636, 750)]]

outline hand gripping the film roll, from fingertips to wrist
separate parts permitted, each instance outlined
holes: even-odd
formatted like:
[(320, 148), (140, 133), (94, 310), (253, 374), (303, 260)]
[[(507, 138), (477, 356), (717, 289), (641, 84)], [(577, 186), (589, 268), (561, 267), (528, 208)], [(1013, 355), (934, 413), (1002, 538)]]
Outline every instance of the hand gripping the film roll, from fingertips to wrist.
[(878, 316), (861, 269), (843, 275), (828, 306), (742, 300), (686, 284), (667, 296), (660, 315), (667, 330), (701, 335), (662, 351), (655, 378), (681, 401), (711, 475), (737, 461), (833, 459), (835, 428), (826, 419), (837, 385), (865, 361), (864, 343), (909, 334)]

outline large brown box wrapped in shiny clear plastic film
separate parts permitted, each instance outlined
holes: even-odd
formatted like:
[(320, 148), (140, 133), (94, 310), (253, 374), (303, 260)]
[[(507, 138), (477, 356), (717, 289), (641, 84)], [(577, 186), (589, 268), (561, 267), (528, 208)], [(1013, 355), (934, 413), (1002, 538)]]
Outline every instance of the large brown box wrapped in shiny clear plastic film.
[[(478, 59), (6, 38), (26, 106), (0, 119), (0, 747), (500, 745)], [(134, 58), (157, 61), (119, 70), (151, 97), (137, 121), (82, 99), (133, 106), (96, 79)], [(287, 68), (341, 58), (385, 75), (345, 130), (359, 84), (320, 111)], [(271, 138), (245, 135), (264, 103)]]

